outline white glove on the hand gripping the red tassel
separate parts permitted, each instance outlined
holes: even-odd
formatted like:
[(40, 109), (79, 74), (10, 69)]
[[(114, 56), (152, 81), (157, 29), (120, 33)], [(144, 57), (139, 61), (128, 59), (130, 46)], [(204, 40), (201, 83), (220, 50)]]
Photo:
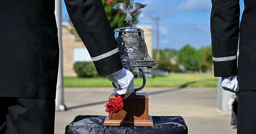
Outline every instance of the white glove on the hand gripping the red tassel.
[(132, 72), (127, 69), (121, 69), (115, 73), (107, 76), (108, 80), (116, 83), (119, 88), (115, 88), (113, 91), (118, 94), (125, 94), (124, 99), (127, 98), (134, 89), (134, 76)]

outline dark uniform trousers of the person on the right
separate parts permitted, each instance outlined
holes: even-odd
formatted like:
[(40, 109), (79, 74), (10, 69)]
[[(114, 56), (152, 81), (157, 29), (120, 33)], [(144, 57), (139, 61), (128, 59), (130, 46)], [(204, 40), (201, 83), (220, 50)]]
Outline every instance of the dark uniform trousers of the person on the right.
[(256, 133), (256, 91), (238, 91), (237, 134)]

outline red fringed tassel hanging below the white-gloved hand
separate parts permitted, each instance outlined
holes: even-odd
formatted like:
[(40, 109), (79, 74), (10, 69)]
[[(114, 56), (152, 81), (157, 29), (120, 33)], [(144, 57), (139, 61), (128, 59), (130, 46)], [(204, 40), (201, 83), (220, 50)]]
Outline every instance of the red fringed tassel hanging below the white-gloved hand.
[(105, 107), (107, 107), (105, 109), (106, 112), (108, 112), (108, 114), (110, 114), (109, 116), (111, 116), (113, 113), (118, 113), (120, 110), (122, 110), (123, 106), (124, 106), (124, 94), (122, 95), (117, 95), (115, 99), (113, 100), (109, 100)]

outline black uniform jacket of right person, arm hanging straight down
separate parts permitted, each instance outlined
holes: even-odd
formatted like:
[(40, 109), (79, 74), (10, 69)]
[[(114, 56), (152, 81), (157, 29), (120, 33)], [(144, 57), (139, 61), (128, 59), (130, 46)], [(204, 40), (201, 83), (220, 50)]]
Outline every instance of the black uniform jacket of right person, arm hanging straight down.
[(239, 0), (212, 0), (214, 76), (237, 74), (239, 90), (256, 90), (256, 1), (244, 0), (240, 28), (239, 16)]

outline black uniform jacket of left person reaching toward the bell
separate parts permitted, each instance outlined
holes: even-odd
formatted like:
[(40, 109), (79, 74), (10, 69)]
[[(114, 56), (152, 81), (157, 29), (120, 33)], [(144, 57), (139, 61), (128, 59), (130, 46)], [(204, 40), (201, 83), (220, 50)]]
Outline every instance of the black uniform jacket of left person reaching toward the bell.
[[(55, 99), (59, 44), (54, 0), (0, 3), (0, 96)], [(122, 69), (101, 0), (65, 3), (99, 75)]]

